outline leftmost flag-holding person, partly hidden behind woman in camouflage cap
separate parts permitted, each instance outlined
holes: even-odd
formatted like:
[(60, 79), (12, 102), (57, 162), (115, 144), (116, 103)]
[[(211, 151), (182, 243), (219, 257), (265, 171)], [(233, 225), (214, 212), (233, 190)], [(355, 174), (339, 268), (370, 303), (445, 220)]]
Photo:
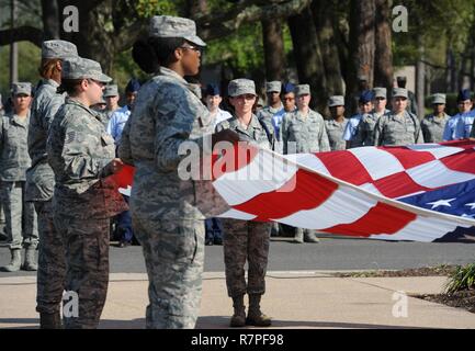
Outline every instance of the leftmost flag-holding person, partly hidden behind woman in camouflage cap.
[(25, 196), (35, 205), (38, 217), (38, 273), (36, 310), (41, 328), (60, 328), (60, 303), (65, 287), (66, 261), (63, 238), (53, 222), (54, 173), (46, 159), (49, 125), (65, 94), (58, 94), (61, 60), (77, 57), (76, 45), (47, 41), (42, 45), (42, 84), (32, 103), (29, 127), (29, 154), (32, 167), (26, 171)]

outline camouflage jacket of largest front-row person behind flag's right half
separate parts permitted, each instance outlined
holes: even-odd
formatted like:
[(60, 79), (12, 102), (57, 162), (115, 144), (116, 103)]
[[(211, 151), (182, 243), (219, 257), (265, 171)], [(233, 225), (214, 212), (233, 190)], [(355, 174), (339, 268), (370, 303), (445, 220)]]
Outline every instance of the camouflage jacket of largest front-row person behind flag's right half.
[(422, 141), (419, 121), (416, 115), (404, 111), (382, 115), (374, 128), (374, 145), (409, 145)]

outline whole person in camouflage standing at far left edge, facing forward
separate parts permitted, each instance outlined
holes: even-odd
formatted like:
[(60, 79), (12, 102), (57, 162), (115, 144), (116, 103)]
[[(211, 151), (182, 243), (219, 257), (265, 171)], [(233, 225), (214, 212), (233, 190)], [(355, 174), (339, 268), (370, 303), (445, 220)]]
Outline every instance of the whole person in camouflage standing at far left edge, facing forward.
[(21, 267), (21, 250), (25, 247), (23, 269), (36, 271), (35, 251), (38, 230), (34, 205), (25, 201), (25, 173), (31, 166), (26, 148), (32, 86), (13, 83), (14, 111), (0, 117), (0, 199), (4, 204), (7, 235), (11, 262), (2, 271), (14, 272)]

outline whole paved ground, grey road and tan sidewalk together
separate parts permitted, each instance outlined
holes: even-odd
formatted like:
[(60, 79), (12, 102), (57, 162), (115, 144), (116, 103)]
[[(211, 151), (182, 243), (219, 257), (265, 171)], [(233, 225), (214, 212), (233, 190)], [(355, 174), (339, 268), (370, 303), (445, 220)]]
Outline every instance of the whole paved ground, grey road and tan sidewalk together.
[[(323, 238), (317, 245), (273, 240), (263, 310), (274, 328), (473, 328), (475, 314), (412, 297), (437, 294), (445, 278), (333, 278), (330, 271), (404, 269), (475, 258), (473, 244)], [(9, 251), (0, 248), (0, 264)], [(231, 302), (223, 248), (206, 247), (197, 328), (227, 328)], [(36, 328), (35, 273), (0, 274), (0, 328)], [(144, 328), (147, 276), (140, 247), (111, 247), (111, 281), (100, 328)]]

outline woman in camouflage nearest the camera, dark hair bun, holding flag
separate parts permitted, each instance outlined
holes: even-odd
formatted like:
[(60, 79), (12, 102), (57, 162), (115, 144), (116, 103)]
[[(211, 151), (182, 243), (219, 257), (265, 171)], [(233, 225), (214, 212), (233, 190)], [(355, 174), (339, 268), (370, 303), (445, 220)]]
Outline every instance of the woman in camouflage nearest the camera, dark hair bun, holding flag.
[(211, 135), (213, 118), (183, 79), (199, 72), (199, 48), (206, 45), (196, 36), (195, 23), (154, 16), (149, 29), (147, 41), (135, 43), (133, 56), (155, 76), (137, 94), (118, 156), (135, 166), (129, 205), (149, 279), (146, 327), (194, 328), (204, 264), (205, 217), (197, 202), (206, 199), (199, 191), (210, 182), (180, 177), (185, 155), (179, 149), (194, 146), (211, 155), (206, 145), (230, 133)]

